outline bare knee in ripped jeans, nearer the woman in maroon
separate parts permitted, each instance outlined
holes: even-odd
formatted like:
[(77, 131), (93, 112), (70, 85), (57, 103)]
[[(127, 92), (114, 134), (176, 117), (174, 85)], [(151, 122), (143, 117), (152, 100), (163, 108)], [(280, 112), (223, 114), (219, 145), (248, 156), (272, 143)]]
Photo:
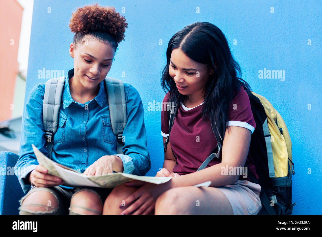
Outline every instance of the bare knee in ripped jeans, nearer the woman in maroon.
[(103, 206), (97, 193), (81, 190), (71, 198), (70, 211), (82, 215), (99, 215)]

